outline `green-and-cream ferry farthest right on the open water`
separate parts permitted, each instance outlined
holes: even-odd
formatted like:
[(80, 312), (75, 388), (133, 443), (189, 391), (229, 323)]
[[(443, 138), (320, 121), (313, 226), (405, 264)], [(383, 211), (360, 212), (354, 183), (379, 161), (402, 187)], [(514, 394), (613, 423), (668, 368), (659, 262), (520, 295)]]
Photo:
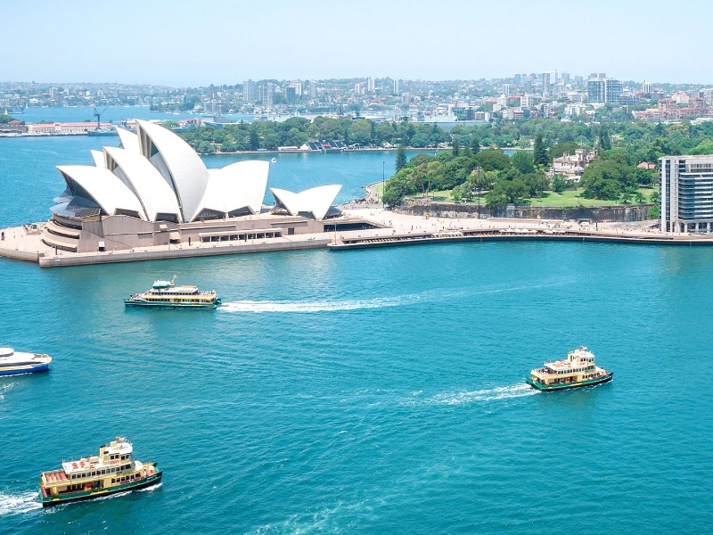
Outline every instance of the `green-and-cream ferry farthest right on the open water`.
[(613, 377), (614, 372), (596, 366), (594, 353), (582, 346), (570, 351), (566, 360), (545, 362), (541, 368), (532, 370), (527, 383), (537, 390), (551, 392), (607, 383)]

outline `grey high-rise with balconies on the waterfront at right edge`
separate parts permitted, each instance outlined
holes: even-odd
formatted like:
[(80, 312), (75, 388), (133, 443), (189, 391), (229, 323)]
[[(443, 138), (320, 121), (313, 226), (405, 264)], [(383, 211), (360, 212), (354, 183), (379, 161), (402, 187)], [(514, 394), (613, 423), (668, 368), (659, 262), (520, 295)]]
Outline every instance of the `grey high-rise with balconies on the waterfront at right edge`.
[(661, 230), (713, 231), (713, 154), (665, 156), (659, 162)]

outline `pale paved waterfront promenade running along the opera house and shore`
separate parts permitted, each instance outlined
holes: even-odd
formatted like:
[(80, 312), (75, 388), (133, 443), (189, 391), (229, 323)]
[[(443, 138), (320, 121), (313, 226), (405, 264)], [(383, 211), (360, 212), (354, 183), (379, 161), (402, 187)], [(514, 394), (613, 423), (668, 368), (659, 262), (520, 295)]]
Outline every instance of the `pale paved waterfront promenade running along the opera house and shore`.
[(151, 259), (176, 259), (250, 252), (288, 251), (297, 249), (333, 250), (457, 243), (462, 241), (581, 241), (638, 243), (660, 245), (713, 245), (711, 235), (667, 234), (652, 228), (651, 223), (607, 222), (597, 225), (578, 224), (557, 219), (504, 218), (426, 218), (397, 214), (381, 207), (345, 205), (342, 211), (349, 219), (363, 219), (381, 226), (371, 230), (337, 231), (318, 234), (290, 235), (247, 242), (172, 243), (152, 247), (135, 247), (125, 251), (68, 252), (42, 242), (40, 231), (29, 226), (5, 228), (0, 241), (0, 257), (29, 260), (43, 268), (130, 262)]

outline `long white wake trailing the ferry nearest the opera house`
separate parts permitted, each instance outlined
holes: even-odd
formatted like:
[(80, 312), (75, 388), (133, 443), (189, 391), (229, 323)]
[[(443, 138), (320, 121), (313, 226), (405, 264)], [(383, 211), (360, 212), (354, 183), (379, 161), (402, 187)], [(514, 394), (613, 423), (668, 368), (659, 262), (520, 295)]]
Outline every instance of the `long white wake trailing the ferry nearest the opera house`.
[(420, 302), (433, 300), (428, 293), (414, 295), (400, 295), (397, 297), (381, 297), (366, 300), (338, 300), (338, 301), (233, 301), (223, 303), (218, 310), (239, 313), (314, 313), (338, 312), (341, 310), (382, 309), (385, 307), (403, 307)]

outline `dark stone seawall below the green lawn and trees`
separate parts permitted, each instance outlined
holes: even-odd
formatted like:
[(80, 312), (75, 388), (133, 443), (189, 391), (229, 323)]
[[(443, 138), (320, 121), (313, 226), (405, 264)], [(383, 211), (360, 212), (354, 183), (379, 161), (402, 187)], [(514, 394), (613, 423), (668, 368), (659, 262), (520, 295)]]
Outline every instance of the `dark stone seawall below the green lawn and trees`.
[(477, 204), (459, 204), (456, 202), (430, 202), (405, 200), (393, 210), (399, 214), (432, 218), (508, 218), (508, 219), (562, 219), (587, 221), (645, 221), (653, 204), (627, 204), (601, 206), (596, 208), (547, 208), (515, 206), (507, 204), (490, 210)]

